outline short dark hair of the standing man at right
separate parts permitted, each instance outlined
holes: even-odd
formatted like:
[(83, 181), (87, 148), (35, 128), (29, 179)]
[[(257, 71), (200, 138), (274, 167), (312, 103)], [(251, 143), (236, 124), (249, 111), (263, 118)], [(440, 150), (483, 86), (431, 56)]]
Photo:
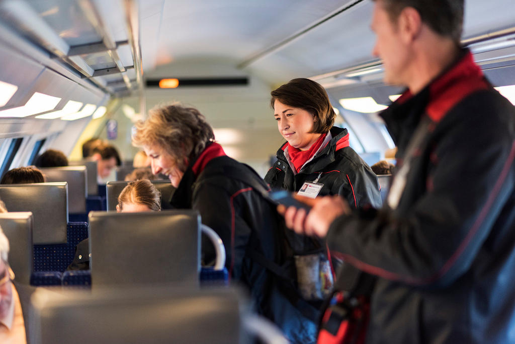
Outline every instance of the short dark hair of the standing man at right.
[[(376, 1), (376, 0), (374, 0)], [(450, 37), (460, 45), (464, 0), (382, 0), (393, 22), (405, 7), (415, 8), (422, 22), (440, 36)]]

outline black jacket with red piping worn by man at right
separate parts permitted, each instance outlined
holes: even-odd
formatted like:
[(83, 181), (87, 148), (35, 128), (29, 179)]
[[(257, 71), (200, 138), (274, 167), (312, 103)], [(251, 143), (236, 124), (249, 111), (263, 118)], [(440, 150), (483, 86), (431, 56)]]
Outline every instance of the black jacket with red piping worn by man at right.
[(515, 342), (515, 108), (464, 50), (381, 116), (399, 148), (387, 204), (327, 235), (377, 276), (367, 342)]

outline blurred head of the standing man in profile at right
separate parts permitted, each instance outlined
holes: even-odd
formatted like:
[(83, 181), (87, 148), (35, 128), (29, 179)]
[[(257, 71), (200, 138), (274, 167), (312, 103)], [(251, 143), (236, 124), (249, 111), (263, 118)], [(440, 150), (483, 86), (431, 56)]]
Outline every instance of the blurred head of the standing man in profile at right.
[[(374, 0), (372, 51), (381, 58), (386, 84), (409, 86), (424, 49), (460, 46), (464, 0)], [(431, 46), (430, 46), (431, 45)]]

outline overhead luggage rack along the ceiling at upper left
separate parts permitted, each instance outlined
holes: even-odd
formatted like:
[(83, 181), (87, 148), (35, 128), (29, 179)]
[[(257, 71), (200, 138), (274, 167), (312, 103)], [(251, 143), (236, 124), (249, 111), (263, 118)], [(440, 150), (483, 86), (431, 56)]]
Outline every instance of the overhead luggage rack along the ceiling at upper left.
[(47, 67), (58, 61), (113, 96), (143, 89), (138, 10), (133, 0), (6, 0), (0, 3), (0, 13), (2, 24), (49, 53), (48, 63), (42, 61)]

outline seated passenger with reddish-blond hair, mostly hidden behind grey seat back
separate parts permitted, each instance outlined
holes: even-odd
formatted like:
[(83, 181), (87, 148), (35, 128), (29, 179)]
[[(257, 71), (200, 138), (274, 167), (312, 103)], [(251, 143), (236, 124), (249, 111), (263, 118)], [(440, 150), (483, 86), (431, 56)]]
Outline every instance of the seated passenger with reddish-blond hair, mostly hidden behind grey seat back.
[[(146, 179), (127, 184), (118, 196), (117, 212), (143, 212), (161, 210), (161, 193)], [(89, 239), (84, 239), (75, 248), (75, 257), (66, 270), (90, 269)]]

